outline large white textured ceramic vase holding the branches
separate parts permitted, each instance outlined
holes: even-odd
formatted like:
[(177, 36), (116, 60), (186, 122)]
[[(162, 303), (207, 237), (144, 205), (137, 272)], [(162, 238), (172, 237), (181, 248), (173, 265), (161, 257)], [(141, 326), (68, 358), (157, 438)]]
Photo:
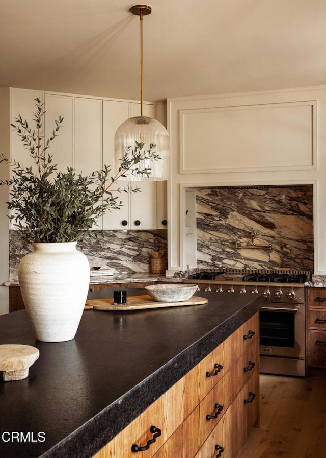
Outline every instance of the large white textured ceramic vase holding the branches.
[(87, 299), (90, 266), (77, 242), (34, 243), (18, 267), (18, 280), (36, 339), (74, 338)]

